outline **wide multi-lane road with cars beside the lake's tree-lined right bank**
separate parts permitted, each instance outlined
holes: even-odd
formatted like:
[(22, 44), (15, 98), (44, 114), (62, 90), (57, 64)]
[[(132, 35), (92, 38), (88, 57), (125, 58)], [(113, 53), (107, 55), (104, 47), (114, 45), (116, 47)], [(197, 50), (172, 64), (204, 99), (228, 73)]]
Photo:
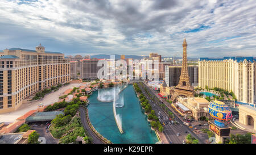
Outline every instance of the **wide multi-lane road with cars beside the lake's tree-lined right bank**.
[[(139, 83), (138, 83), (138, 86), (141, 88), (143, 94), (146, 94), (144, 91), (144, 88), (142, 88)], [(143, 87), (145, 87), (151, 95), (153, 95), (153, 96), (155, 95), (155, 97), (158, 98), (158, 96), (155, 93), (153, 93), (153, 91), (150, 88), (148, 88), (144, 83), (143, 83)], [(192, 130), (187, 125), (184, 125), (183, 121), (181, 121), (179, 116), (177, 116), (176, 112), (174, 112), (170, 107), (168, 107), (168, 108), (170, 109), (170, 111), (172, 111), (172, 113), (174, 113), (175, 120), (178, 124), (172, 124), (170, 122), (170, 120), (168, 120), (169, 119), (168, 114), (166, 114), (166, 112), (159, 106), (160, 102), (155, 103), (152, 100), (150, 100), (148, 95), (145, 95), (145, 96), (149, 101), (148, 103), (151, 104), (152, 110), (155, 110), (155, 114), (158, 116), (160, 114), (160, 117), (159, 117), (160, 122), (161, 123), (164, 122), (164, 124), (166, 124), (163, 126), (164, 127), (163, 133), (164, 133), (164, 135), (166, 135), (166, 137), (170, 143), (174, 143), (174, 144), (183, 143), (183, 140), (185, 141), (185, 137), (189, 133), (191, 133), (191, 135), (193, 137), (195, 137), (196, 139), (199, 140), (199, 143), (204, 144), (204, 141), (202, 141), (199, 138), (199, 136), (197, 136), (194, 132), (192, 132)], [(158, 102), (158, 101), (156, 100), (156, 102)], [(167, 103), (165, 100), (163, 100), (163, 103), (166, 105), (170, 104), (170, 103)], [(187, 133), (185, 133), (185, 132), (187, 132)], [(177, 136), (177, 133), (179, 133), (180, 136)]]

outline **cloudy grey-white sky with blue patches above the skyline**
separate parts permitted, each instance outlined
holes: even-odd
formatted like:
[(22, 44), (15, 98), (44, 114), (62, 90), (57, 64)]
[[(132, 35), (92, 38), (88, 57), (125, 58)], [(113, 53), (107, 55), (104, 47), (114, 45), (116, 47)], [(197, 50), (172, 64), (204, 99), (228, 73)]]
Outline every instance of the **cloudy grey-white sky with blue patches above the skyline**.
[(0, 1), (0, 50), (65, 55), (256, 56), (255, 0)]

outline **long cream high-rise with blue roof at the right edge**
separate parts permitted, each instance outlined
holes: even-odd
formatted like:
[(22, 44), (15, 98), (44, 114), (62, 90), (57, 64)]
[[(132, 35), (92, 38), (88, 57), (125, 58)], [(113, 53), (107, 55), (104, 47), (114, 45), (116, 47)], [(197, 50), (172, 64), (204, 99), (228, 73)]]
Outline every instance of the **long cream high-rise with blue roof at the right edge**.
[(199, 59), (199, 86), (233, 91), (237, 100), (255, 103), (256, 59), (224, 57)]

